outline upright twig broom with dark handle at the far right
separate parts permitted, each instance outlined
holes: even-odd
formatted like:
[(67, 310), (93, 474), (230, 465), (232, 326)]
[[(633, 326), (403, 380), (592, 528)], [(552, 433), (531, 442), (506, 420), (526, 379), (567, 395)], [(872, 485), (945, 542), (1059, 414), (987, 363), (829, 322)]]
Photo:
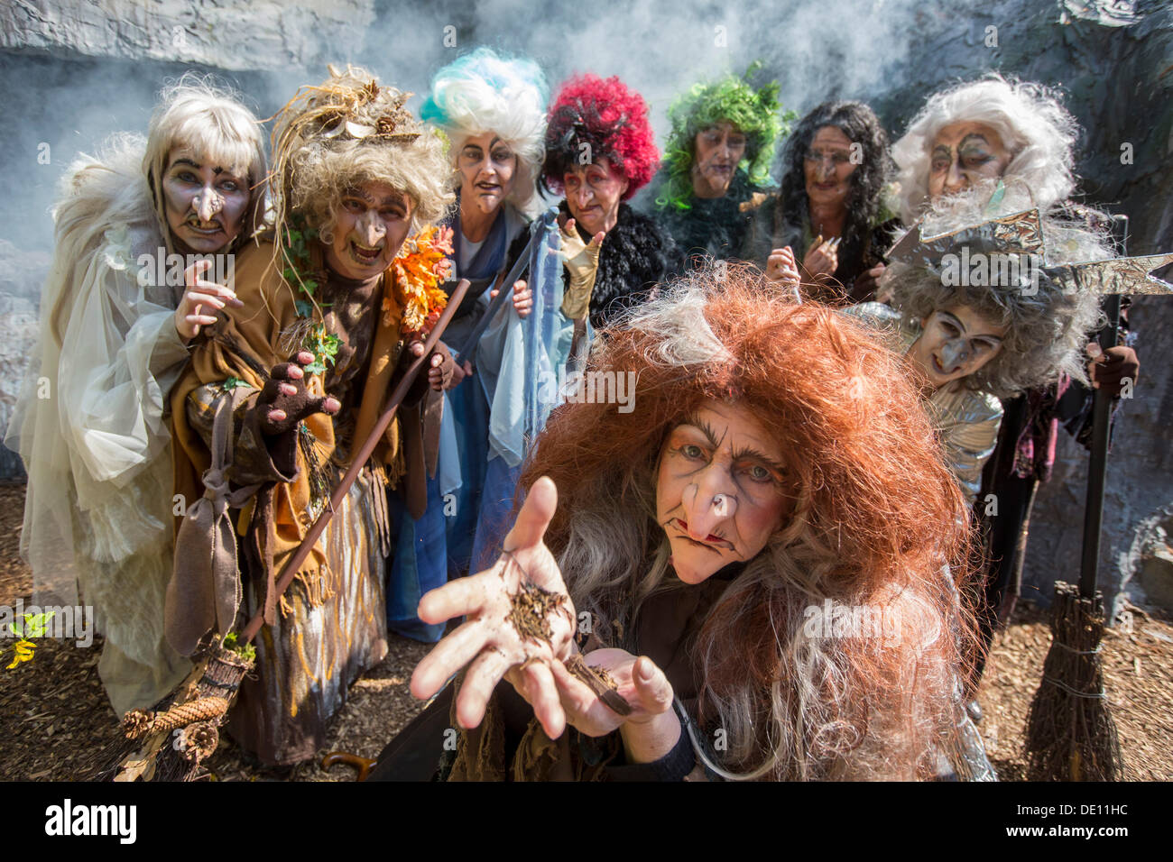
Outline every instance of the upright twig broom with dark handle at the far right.
[[(1112, 226), (1124, 253), (1127, 216), (1114, 216)], [(1103, 310), (1107, 325), (1100, 332), (1100, 345), (1107, 349), (1117, 342), (1120, 296), (1105, 297)], [(1026, 775), (1031, 781), (1116, 781), (1124, 773), (1120, 740), (1104, 692), (1100, 640), (1106, 618), (1104, 595), (1096, 589), (1111, 409), (1112, 398), (1097, 389), (1079, 586), (1063, 581), (1055, 584), (1051, 649), (1026, 717)]]

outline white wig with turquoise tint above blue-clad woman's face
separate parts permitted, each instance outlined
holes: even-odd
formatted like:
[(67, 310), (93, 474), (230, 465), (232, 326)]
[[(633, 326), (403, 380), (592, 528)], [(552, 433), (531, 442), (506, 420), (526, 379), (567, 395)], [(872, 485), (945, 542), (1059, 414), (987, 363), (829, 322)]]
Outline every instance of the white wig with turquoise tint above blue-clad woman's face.
[(533, 60), (477, 48), (441, 68), (420, 108), (452, 141), (455, 157), (475, 135), (496, 134), (517, 154), (509, 201), (518, 209), (533, 201), (545, 157), (545, 103), (549, 86)]

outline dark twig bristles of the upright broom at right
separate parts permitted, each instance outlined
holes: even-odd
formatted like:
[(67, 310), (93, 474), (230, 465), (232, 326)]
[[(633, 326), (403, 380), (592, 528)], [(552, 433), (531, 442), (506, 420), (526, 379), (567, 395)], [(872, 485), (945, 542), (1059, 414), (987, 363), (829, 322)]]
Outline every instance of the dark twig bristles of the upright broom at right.
[(1117, 781), (1120, 739), (1104, 693), (1099, 645), (1104, 597), (1082, 598), (1056, 582), (1051, 649), (1026, 717), (1026, 775), (1031, 781)]

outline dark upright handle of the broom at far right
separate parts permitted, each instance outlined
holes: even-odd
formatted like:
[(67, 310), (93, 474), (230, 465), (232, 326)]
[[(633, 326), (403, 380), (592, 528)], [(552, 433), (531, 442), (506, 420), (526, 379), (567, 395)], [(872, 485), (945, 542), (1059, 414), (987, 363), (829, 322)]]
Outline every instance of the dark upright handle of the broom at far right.
[[(1128, 217), (1112, 217), (1112, 235), (1121, 254), (1127, 253)], [(1117, 327), (1120, 325), (1120, 294), (1104, 297), (1107, 324), (1100, 330), (1099, 344), (1105, 351), (1116, 347)], [(1112, 396), (1096, 389), (1092, 396), (1092, 446), (1087, 463), (1087, 502), (1084, 507), (1084, 547), (1079, 566), (1079, 595), (1094, 598), (1099, 576), (1100, 531), (1104, 521), (1104, 488), (1107, 482), (1107, 443), (1112, 420)]]

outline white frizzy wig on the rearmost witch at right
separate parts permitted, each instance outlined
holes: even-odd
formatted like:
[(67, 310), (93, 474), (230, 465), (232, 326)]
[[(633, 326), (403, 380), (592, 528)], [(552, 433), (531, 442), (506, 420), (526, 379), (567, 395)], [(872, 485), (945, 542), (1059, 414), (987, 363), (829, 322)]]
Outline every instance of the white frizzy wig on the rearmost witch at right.
[(1074, 118), (1049, 88), (990, 75), (929, 96), (891, 149), (900, 183), (900, 218), (911, 224), (928, 205), (930, 151), (937, 134), (960, 122), (994, 128), (1011, 152), (1003, 177), (1030, 189), (1044, 212), (1071, 195)]

